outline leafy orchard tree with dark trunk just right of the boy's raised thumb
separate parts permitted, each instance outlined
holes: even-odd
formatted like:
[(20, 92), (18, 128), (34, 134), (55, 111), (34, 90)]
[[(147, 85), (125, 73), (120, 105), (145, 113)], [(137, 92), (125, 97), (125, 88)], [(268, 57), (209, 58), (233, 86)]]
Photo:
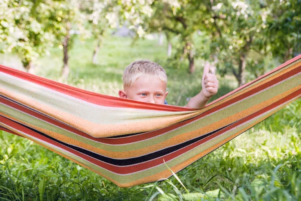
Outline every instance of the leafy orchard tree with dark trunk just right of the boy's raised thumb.
[[(246, 82), (246, 70), (255, 76), (264, 71), (264, 56), (268, 56), (265, 36), (266, 18), (271, 14), (261, 2), (218, 1), (206, 3), (204, 30), (211, 36), (211, 53), (217, 56), (220, 72), (232, 72), (241, 86)], [(263, 55), (254, 60), (250, 52)]]

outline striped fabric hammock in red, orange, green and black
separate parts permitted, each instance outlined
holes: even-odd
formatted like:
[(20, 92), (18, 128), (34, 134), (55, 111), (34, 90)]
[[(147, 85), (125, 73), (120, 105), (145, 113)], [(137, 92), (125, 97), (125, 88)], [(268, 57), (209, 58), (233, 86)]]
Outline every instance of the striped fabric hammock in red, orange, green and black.
[(172, 176), (167, 166), (180, 171), (300, 96), (301, 55), (201, 110), (102, 95), (0, 65), (0, 129), (129, 187)]

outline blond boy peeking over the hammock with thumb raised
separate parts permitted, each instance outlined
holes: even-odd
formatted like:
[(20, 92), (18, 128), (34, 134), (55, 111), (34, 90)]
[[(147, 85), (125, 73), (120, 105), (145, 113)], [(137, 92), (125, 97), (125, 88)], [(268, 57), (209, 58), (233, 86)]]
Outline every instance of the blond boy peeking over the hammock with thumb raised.
[[(204, 108), (208, 100), (217, 93), (218, 80), (214, 74), (209, 73), (209, 67), (209, 63), (206, 63), (201, 92), (191, 98), (185, 107)], [(125, 68), (122, 80), (123, 90), (119, 90), (119, 97), (146, 103), (167, 104), (167, 75), (161, 65), (147, 60), (135, 61)]]

